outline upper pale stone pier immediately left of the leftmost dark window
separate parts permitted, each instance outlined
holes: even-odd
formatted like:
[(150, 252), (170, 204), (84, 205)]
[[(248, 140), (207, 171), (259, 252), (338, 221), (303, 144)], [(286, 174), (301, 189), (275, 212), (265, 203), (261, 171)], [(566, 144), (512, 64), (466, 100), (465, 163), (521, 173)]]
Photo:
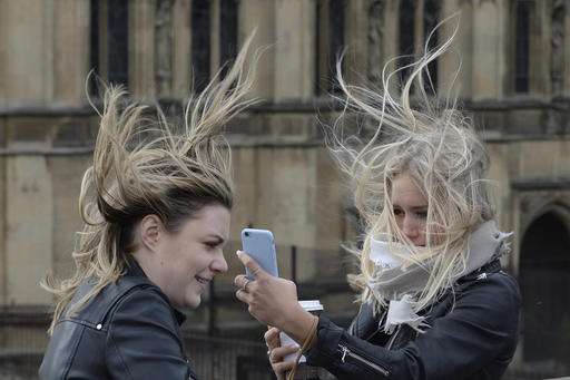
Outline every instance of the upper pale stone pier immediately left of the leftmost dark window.
[(53, 100), (78, 106), (89, 68), (89, 0), (58, 0), (53, 17)]

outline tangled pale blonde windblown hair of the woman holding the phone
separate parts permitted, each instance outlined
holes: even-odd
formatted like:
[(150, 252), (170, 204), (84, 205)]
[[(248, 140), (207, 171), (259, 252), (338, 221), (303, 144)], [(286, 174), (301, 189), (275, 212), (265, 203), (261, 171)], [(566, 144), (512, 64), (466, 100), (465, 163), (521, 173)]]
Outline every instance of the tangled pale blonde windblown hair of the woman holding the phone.
[[(374, 303), (376, 311), (386, 305), (389, 295), (375, 296), (367, 286), (374, 275), (382, 276), (370, 260), (372, 237), (383, 235), (403, 243), (409, 254), (394, 254), (404, 265), (430, 261), (430, 279), (414, 302), (414, 309), (421, 310), (464, 271), (470, 233), (494, 217), (485, 181), (489, 155), (473, 121), (455, 109), (454, 100), (439, 101), (425, 91), (428, 65), (446, 51), (455, 32), (434, 51), (426, 48), (410, 65), (411, 75), (397, 98), (389, 89), (397, 87), (392, 81), (403, 68), (389, 74), (392, 61), (383, 69), (380, 91), (346, 84), (337, 64), (345, 113), (363, 115), (373, 126), (372, 137), (364, 144), (342, 130), (343, 113), (327, 135), (327, 145), (351, 178), (365, 232), (362, 249), (353, 250), (360, 256), (360, 273), (348, 276), (348, 281), (361, 290), (360, 301)], [(397, 227), (391, 188), (401, 174), (409, 175), (428, 201), (426, 247), (414, 246)]]

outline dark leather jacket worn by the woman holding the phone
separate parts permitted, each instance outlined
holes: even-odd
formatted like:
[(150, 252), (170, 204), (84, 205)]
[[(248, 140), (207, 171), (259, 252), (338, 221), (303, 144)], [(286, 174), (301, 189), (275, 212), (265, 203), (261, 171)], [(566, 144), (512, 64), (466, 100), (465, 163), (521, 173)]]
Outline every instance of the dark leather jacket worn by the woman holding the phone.
[(385, 312), (375, 316), (366, 304), (348, 331), (321, 316), (307, 363), (341, 380), (500, 379), (517, 347), (520, 306), (515, 280), (495, 260), (420, 312), (424, 333), (401, 325), (387, 335)]

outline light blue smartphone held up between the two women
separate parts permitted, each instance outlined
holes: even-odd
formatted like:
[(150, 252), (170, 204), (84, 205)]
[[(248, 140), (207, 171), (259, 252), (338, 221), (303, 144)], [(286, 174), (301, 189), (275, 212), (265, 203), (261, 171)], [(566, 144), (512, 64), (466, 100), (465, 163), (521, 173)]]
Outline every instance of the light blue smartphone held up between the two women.
[[(271, 275), (278, 276), (277, 255), (275, 254), (275, 240), (267, 230), (244, 228), (242, 231), (242, 247), (263, 270)], [(254, 280), (249, 270), (245, 269), (248, 279)]]

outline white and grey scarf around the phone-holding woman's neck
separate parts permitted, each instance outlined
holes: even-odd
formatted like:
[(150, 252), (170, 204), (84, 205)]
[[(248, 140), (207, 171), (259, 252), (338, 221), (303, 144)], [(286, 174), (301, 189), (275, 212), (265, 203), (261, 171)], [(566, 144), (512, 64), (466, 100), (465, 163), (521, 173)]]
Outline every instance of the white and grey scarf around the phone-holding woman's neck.
[[(453, 277), (452, 282), (508, 252), (505, 240), (511, 235), (512, 233), (500, 232), (494, 221), (481, 224), (469, 236), (465, 270)], [(371, 240), (370, 259), (381, 270), (376, 271), (377, 274), (370, 280), (368, 288), (374, 296), (390, 300), (384, 331), (391, 334), (396, 325), (407, 324), (422, 332), (426, 325), (424, 318), (417, 315), (413, 309), (413, 296), (424, 290), (428, 284), (433, 259), (425, 261), (422, 265), (411, 264), (404, 269), (402, 261), (393, 255), (389, 247), (400, 250), (402, 253), (406, 252), (402, 244)]]

